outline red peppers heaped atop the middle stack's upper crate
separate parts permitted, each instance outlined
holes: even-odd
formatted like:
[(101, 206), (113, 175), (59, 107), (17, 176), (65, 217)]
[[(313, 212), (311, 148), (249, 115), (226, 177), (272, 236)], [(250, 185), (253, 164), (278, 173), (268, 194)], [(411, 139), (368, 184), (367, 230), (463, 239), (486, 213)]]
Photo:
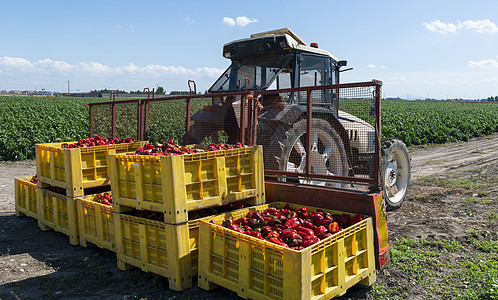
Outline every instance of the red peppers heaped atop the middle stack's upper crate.
[(145, 144), (143, 147), (138, 148), (135, 153), (128, 153), (134, 155), (154, 155), (154, 156), (171, 156), (171, 155), (182, 155), (182, 154), (193, 154), (200, 152), (209, 152), (209, 151), (220, 151), (220, 150), (229, 150), (235, 148), (242, 148), (244, 145), (238, 142), (235, 145), (225, 145), (223, 143), (215, 144), (211, 143), (207, 146), (207, 149), (198, 149), (198, 148), (189, 148), (178, 146), (172, 139), (166, 141), (165, 143), (157, 143), (157, 144)]

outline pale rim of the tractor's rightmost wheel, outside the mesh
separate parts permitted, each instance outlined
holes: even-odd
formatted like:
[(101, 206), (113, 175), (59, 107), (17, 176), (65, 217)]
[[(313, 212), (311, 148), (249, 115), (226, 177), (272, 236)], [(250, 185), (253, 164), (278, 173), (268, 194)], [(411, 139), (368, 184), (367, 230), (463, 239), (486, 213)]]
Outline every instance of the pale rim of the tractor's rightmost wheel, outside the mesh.
[(397, 149), (388, 157), (384, 170), (384, 191), (392, 203), (403, 200), (409, 180), (408, 157), (406, 153)]

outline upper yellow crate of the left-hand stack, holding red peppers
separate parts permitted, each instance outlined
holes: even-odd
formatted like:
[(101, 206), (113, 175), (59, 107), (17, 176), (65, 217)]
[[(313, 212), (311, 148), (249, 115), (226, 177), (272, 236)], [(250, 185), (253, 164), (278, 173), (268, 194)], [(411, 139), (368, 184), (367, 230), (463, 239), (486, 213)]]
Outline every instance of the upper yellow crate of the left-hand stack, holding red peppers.
[(61, 187), (70, 197), (83, 196), (86, 188), (110, 184), (109, 154), (134, 152), (144, 144), (135, 142), (71, 149), (61, 148), (62, 143), (37, 144), (38, 186)]

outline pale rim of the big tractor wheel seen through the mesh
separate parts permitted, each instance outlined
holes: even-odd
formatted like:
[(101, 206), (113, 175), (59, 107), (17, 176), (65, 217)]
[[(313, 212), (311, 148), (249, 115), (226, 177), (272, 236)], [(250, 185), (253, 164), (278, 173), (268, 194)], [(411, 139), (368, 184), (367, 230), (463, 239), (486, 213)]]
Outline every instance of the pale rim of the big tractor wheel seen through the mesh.
[[(287, 171), (304, 173), (306, 168), (306, 135), (302, 133), (294, 141), (293, 149), (287, 161)], [(334, 138), (326, 131), (313, 129), (311, 134), (311, 173), (321, 175), (341, 175), (343, 166), (340, 153)], [(340, 183), (330, 183), (323, 180), (300, 179), (300, 183), (313, 185), (340, 186)]]

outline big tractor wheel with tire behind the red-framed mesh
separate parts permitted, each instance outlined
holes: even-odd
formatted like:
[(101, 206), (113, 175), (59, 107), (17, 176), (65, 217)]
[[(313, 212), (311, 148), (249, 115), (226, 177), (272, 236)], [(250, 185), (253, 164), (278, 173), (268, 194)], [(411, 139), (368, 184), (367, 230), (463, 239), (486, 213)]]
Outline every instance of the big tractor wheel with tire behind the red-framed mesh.
[[(312, 120), (311, 173), (347, 176), (348, 157), (344, 143), (335, 129), (323, 119)], [(281, 155), (276, 157), (280, 171), (304, 172), (306, 167), (306, 120), (290, 127), (280, 141)], [(300, 183), (342, 187), (341, 182), (300, 179)]]

